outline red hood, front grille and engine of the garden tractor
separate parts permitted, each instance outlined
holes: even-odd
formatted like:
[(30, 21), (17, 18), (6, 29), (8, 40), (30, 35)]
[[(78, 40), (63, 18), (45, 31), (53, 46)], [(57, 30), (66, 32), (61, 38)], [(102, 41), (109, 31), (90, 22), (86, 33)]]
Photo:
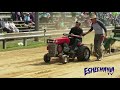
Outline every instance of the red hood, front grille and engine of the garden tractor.
[(51, 57), (55, 57), (62, 52), (67, 53), (69, 51), (68, 44), (70, 43), (70, 39), (68, 37), (47, 39), (47, 43), (48, 43), (47, 50), (49, 56)]

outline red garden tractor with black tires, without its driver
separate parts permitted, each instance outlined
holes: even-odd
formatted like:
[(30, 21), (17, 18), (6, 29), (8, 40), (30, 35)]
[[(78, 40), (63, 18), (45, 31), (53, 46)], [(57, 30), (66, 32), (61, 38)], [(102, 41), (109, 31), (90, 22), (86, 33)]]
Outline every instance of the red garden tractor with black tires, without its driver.
[(78, 61), (87, 61), (90, 58), (90, 50), (87, 46), (79, 42), (77, 50), (71, 52), (72, 45), (70, 44), (71, 38), (80, 37), (78, 35), (63, 34), (63, 37), (56, 39), (47, 39), (48, 53), (44, 55), (44, 61), (49, 63), (51, 57), (59, 57), (60, 62), (63, 64), (74, 60), (77, 57)]

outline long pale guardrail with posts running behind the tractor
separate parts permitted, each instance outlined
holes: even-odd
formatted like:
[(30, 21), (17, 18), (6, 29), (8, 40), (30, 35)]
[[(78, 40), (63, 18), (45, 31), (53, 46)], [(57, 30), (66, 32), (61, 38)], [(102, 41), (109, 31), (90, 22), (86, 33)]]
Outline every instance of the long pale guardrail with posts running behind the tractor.
[[(108, 28), (108, 31), (111, 31), (113, 28)], [(87, 32), (89, 28), (84, 28), (84, 32)], [(33, 31), (33, 32), (20, 32), (20, 33), (10, 33), (10, 34), (0, 34), (0, 41), (3, 42), (3, 49), (6, 49), (6, 41), (10, 39), (23, 39), (23, 45), (27, 45), (28, 38), (35, 38), (35, 37), (51, 37), (51, 36), (58, 36), (62, 35), (63, 33), (68, 33), (70, 30), (42, 30), (42, 31)]]

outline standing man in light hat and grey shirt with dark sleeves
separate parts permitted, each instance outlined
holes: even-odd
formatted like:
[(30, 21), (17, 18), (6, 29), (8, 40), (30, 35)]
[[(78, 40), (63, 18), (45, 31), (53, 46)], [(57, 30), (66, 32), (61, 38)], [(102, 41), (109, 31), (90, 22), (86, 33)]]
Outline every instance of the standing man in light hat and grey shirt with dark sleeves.
[[(105, 25), (100, 21), (97, 20), (96, 15), (91, 15), (91, 29), (84, 34), (84, 36), (88, 33), (90, 33), (92, 30), (95, 30), (95, 37), (94, 37), (94, 50), (95, 50), (95, 56), (97, 57), (96, 61), (100, 61), (103, 58), (102, 55), (102, 43), (104, 38), (107, 36), (107, 29)], [(105, 32), (105, 35), (104, 35)]]

